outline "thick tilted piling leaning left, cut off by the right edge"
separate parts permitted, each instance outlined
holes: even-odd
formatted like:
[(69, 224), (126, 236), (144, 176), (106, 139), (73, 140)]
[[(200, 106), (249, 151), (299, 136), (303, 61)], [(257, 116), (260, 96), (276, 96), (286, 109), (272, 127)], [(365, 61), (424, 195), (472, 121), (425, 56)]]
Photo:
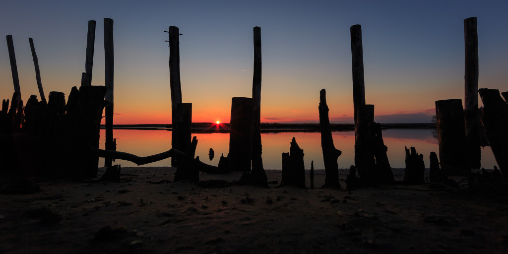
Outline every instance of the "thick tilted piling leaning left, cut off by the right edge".
[(508, 178), (508, 104), (497, 89), (482, 88), (479, 92), (483, 101), (485, 135), (503, 177)]

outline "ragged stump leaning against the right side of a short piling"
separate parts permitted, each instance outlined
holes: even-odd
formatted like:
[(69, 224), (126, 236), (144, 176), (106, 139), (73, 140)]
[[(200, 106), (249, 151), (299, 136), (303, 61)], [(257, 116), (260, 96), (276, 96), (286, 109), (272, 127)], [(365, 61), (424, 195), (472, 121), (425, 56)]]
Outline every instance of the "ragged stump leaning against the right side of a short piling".
[(376, 182), (393, 183), (395, 181), (393, 177), (392, 167), (388, 161), (388, 147), (383, 141), (383, 135), (381, 132), (381, 124), (371, 122), (368, 125), (369, 129), (369, 140), (372, 142), (372, 151), (376, 160), (374, 168), (374, 177)]

